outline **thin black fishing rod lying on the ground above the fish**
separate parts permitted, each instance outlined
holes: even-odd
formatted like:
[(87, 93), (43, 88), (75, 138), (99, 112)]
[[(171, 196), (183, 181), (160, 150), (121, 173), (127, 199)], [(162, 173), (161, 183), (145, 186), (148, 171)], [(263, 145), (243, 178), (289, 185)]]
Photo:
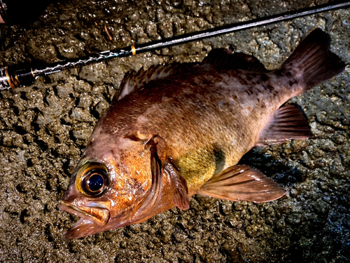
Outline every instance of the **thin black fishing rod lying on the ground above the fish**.
[(93, 62), (102, 62), (111, 58), (125, 58), (131, 55), (139, 53), (146, 53), (148, 51), (157, 50), (159, 48), (167, 48), (169, 46), (175, 46), (182, 43), (188, 43), (190, 41), (206, 39), (212, 36), (218, 36), (221, 34), (228, 34), (242, 29), (248, 29), (251, 27), (258, 27), (262, 25), (268, 25), (275, 22), (281, 22), (290, 20), (293, 18), (300, 18), (305, 15), (314, 15), (325, 11), (335, 10), (339, 8), (346, 8), (350, 6), (350, 1), (344, 1), (338, 4), (326, 4), (323, 6), (317, 6), (279, 15), (270, 16), (267, 18), (259, 18), (247, 22), (239, 22), (235, 25), (226, 25), (223, 27), (217, 27), (213, 29), (207, 29), (201, 32), (195, 32), (193, 34), (184, 34), (181, 36), (175, 36), (173, 38), (164, 39), (160, 41), (153, 41), (151, 43), (144, 43), (141, 45), (132, 45), (126, 48), (120, 48), (116, 50), (107, 50), (100, 53), (94, 53), (82, 58), (75, 58), (72, 60), (63, 60), (52, 64), (39, 66), (39, 67), (0, 67), (0, 90), (8, 90), (10, 88), (16, 88), (18, 86), (31, 85), (35, 79), (39, 76), (45, 76), (55, 72), (60, 72), (64, 69), (71, 67), (77, 67), (80, 65), (87, 65)]

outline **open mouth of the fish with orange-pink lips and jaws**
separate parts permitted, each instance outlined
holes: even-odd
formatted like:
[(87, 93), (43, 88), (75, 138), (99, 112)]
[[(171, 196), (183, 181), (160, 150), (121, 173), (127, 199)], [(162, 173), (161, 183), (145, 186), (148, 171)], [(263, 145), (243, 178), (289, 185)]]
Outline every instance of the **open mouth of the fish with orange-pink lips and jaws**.
[(70, 240), (73, 238), (82, 238), (90, 236), (100, 231), (104, 231), (104, 226), (109, 221), (109, 210), (99, 203), (90, 203), (82, 208), (66, 201), (61, 201), (58, 205), (59, 210), (76, 215), (80, 220), (64, 232), (64, 238)]

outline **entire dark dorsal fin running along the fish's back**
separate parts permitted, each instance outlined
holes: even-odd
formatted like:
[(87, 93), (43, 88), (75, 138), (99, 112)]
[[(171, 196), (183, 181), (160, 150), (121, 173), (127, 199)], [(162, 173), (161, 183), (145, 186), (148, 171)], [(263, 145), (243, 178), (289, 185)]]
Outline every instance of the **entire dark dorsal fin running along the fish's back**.
[[(211, 65), (211, 67), (206, 67)], [(123, 99), (134, 90), (142, 88), (151, 81), (165, 79), (176, 74), (193, 74), (199, 70), (209, 71), (212, 67), (217, 69), (244, 69), (255, 73), (267, 72), (264, 65), (252, 55), (243, 53), (235, 53), (232, 48), (214, 49), (204, 58), (202, 63), (186, 63), (186, 64), (170, 64), (152, 66), (147, 70), (141, 68), (139, 72), (128, 72), (122, 83), (120, 83), (119, 92), (114, 95), (112, 104), (116, 104), (118, 100)]]

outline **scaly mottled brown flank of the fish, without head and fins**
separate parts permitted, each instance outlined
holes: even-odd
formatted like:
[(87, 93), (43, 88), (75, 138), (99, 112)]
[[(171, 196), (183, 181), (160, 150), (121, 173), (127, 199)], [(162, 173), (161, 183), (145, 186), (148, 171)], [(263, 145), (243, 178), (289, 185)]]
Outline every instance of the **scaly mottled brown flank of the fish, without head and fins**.
[(109, 120), (104, 131), (111, 136), (139, 130), (162, 137), (164, 155), (181, 170), (190, 195), (214, 173), (235, 165), (254, 146), (271, 114), (300, 89), (294, 79), (290, 87), (290, 78), (275, 73), (206, 73), (151, 83), (120, 100), (104, 117)]

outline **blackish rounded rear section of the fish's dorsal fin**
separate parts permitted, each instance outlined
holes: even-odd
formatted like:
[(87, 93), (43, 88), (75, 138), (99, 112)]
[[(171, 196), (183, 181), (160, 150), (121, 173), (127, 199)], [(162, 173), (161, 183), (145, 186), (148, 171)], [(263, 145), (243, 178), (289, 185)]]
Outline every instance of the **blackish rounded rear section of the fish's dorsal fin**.
[(216, 68), (223, 69), (244, 69), (255, 73), (267, 72), (264, 65), (253, 55), (237, 53), (232, 48), (211, 50), (202, 63), (209, 63)]

